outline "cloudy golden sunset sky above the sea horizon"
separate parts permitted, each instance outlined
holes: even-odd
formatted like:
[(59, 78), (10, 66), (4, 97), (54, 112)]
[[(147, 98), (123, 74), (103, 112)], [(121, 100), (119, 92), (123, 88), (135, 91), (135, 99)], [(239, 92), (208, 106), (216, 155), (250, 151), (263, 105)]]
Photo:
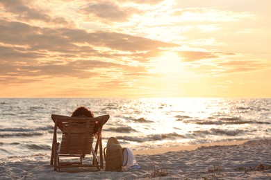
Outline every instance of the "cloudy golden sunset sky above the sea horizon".
[(271, 98), (270, 0), (0, 0), (0, 98)]

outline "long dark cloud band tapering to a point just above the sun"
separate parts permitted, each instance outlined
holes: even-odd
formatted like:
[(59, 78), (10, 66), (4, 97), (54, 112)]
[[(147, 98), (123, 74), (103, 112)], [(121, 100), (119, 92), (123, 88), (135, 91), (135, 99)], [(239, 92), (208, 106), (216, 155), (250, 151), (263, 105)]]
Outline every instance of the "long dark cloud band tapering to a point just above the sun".
[(28, 45), (33, 51), (63, 51), (78, 48), (75, 43), (88, 43), (120, 51), (151, 51), (156, 48), (178, 46), (144, 37), (122, 33), (94, 32), (70, 28), (39, 28), (20, 22), (0, 21), (0, 42)]

